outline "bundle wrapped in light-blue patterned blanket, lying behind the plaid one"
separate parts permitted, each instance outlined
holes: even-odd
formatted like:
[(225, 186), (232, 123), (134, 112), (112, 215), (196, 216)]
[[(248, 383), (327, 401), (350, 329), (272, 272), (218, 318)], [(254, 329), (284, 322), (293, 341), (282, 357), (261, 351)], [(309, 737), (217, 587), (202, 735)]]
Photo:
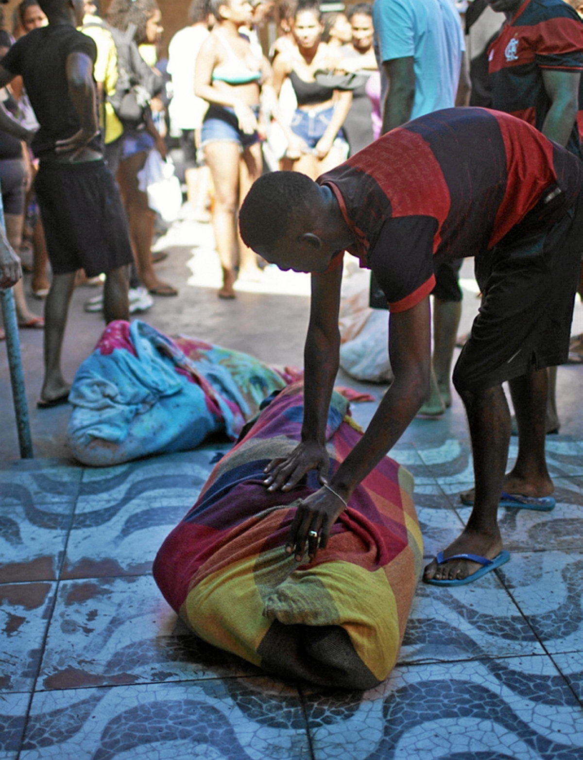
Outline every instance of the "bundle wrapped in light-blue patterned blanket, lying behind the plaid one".
[(110, 467), (188, 451), (217, 433), (235, 441), (265, 396), (295, 376), (146, 322), (113, 321), (75, 375), (68, 448), (83, 464)]

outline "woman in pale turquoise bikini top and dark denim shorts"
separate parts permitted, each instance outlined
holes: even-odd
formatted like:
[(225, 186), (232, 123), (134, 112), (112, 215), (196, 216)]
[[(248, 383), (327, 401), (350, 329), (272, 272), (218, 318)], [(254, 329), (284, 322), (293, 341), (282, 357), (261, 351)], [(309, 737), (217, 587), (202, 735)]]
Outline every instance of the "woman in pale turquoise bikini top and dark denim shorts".
[[(260, 270), (255, 253), (236, 233), (239, 210), (239, 168), (249, 187), (263, 169), (258, 135), (261, 87), (271, 80), (271, 67), (252, 51), (239, 29), (252, 20), (249, 0), (213, 0), (217, 24), (204, 40), (195, 69), (195, 95), (209, 103), (201, 130), (204, 159), (214, 184), (213, 226), (223, 271), (220, 298), (234, 298), (236, 268), (239, 278), (256, 279)], [(240, 188), (240, 197), (248, 188)]]

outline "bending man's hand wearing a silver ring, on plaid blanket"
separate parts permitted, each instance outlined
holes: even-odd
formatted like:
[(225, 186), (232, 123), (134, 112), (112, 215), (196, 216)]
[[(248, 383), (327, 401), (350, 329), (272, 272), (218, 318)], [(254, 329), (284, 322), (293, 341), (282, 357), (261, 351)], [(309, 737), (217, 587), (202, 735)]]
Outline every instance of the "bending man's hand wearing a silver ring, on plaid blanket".
[(296, 562), (301, 562), (307, 544), (311, 562), (318, 549), (326, 548), (330, 529), (344, 508), (344, 496), (328, 488), (321, 488), (299, 502), (286, 543), (287, 554), (293, 552)]

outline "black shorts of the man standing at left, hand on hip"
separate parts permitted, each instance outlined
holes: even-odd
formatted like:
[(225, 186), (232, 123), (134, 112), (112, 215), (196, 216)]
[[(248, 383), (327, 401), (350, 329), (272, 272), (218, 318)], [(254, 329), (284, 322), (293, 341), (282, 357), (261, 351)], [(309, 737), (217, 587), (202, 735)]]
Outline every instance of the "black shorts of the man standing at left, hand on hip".
[(103, 160), (41, 160), (34, 186), (54, 274), (96, 277), (131, 264), (125, 211)]

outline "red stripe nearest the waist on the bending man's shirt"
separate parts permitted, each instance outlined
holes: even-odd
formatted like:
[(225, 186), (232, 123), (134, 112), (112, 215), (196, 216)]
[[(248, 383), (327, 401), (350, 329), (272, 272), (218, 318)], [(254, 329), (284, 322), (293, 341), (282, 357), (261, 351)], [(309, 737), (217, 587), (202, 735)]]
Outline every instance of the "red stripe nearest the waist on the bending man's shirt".
[[(491, 112), (495, 113), (495, 112)], [(540, 200), (543, 190), (556, 181), (553, 143), (524, 122), (496, 117), (506, 150), (506, 191), (494, 223), (489, 246), (496, 245)], [(524, 140), (519, 125), (528, 131)], [(534, 179), (536, 176), (536, 179)], [(524, 182), (528, 177), (528, 182)]]

